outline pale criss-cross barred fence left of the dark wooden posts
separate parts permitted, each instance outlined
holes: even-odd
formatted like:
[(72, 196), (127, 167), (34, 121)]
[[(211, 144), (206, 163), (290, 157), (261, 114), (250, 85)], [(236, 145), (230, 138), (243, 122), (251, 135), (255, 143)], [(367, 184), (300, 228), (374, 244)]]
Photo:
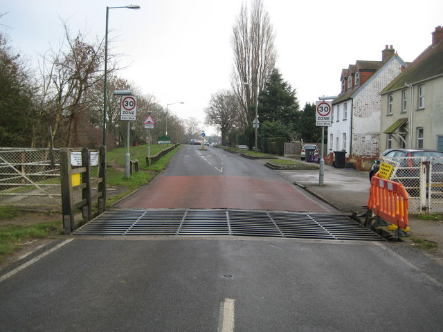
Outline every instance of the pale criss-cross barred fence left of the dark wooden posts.
[(0, 148), (0, 205), (60, 208), (58, 149)]

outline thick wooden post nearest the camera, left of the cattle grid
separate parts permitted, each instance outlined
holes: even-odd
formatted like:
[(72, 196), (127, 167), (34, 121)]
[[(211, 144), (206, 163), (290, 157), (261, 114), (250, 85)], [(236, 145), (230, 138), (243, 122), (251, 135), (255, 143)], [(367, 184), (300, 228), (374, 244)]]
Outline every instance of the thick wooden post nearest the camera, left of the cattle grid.
[(62, 214), (64, 234), (74, 230), (74, 207), (71, 178), (71, 151), (60, 149), (60, 183), (62, 185)]

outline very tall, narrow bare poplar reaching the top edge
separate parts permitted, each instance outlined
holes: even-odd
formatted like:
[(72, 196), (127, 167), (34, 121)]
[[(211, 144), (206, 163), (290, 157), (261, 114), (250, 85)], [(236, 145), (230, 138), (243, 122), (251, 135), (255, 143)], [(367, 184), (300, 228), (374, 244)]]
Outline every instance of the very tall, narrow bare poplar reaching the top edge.
[(263, 8), (263, 0), (252, 0), (250, 11), (243, 3), (231, 39), (234, 53), (231, 84), (244, 110), (239, 119), (244, 127), (250, 126), (255, 118), (253, 105), (257, 94), (263, 89), (275, 66), (277, 53), (274, 39), (275, 33), (269, 14)]

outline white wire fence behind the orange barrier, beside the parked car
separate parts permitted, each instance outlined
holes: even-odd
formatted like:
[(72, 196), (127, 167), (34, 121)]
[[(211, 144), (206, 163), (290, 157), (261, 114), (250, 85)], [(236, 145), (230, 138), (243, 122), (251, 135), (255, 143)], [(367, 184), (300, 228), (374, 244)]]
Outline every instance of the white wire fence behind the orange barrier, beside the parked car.
[(390, 180), (401, 183), (408, 192), (409, 213), (443, 212), (443, 158), (381, 158), (392, 165)]

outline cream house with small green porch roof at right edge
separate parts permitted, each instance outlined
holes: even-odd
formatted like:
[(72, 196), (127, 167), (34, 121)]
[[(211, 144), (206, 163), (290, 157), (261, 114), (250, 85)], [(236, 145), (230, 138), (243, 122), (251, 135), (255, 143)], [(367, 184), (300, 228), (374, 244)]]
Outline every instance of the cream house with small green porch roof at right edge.
[(443, 27), (432, 44), (381, 91), (382, 150), (443, 151)]

